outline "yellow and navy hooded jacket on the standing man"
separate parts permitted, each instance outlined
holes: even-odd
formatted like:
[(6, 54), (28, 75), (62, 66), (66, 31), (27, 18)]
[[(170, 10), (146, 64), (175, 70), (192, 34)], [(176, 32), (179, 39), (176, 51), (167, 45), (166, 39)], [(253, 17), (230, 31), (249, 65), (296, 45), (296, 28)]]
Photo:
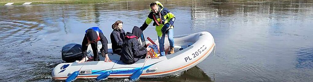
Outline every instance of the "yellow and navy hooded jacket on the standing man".
[(175, 21), (175, 15), (172, 14), (167, 8), (164, 8), (164, 6), (159, 1), (156, 1), (154, 3), (156, 3), (159, 6), (158, 13), (154, 13), (149, 7), (150, 13), (146, 18), (146, 21), (140, 27), (140, 29), (142, 31), (145, 30), (149, 26), (149, 24), (153, 21), (153, 26), (156, 26), (155, 30), (157, 35), (161, 37), (162, 36), (161, 29), (164, 24), (169, 23), (170, 24), (169, 29), (174, 28), (173, 24)]

